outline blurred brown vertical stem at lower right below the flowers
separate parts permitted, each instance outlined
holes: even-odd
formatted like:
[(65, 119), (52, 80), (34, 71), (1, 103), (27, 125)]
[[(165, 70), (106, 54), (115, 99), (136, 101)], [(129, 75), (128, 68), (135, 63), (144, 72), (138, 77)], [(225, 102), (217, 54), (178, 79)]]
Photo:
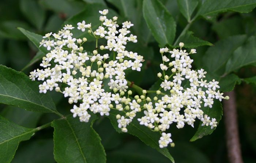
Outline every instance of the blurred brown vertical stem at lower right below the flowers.
[(224, 100), (224, 120), (226, 127), (227, 154), (230, 163), (243, 163), (239, 142), (236, 94), (233, 91), (225, 93), (229, 100)]

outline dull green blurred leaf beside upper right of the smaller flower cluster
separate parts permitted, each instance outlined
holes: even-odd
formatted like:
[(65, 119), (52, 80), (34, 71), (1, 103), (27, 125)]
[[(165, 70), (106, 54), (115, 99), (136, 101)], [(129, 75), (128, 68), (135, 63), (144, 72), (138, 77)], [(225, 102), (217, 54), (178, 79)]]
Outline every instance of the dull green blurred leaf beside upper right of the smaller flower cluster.
[(227, 60), (245, 40), (246, 35), (230, 36), (226, 39), (219, 40), (214, 46), (209, 47), (203, 57), (204, 66), (208, 68), (207, 71), (222, 75), (224, 72), (218, 71), (225, 69)]

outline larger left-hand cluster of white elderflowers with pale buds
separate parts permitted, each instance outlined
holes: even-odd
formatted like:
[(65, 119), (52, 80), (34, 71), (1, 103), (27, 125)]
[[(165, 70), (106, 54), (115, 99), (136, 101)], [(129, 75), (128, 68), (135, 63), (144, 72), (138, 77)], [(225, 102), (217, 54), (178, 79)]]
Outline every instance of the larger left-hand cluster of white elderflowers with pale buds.
[[(37, 78), (44, 81), (39, 85), (40, 93), (55, 89), (63, 93), (64, 97), (68, 97), (70, 104), (79, 103), (74, 105), (71, 112), (74, 117), (78, 116), (80, 121), (84, 122), (90, 119), (88, 110), (108, 116), (110, 108), (114, 107), (112, 102), (118, 110), (123, 110), (123, 103), (129, 104), (131, 100), (124, 97), (128, 88), (125, 70), (140, 71), (141, 62), (144, 61), (141, 55), (125, 50), (127, 42), (137, 42), (136, 36), (129, 34), (129, 28), (133, 24), (124, 22), (122, 28), (117, 30), (119, 26), (116, 16), (107, 19), (107, 9), (99, 13), (102, 14), (99, 17), (102, 25), (95, 31), (91, 28), (91, 23), (77, 23), (79, 30), (87, 30), (96, 39), (96, 49), (93, 53), (84, 50), (82, 46), (87, 38), (73, 38), (72, 29), (75, 27), (67, 24), (58, 33), (51, 32), (43, 37), (40, 46), (46, 47), (50, 52), (40, 64), (43, 69), (30, 73), (32, 80)], [(110, 51), (109, 54), (98, 53), (98, 39), (106, 40), (106, 46), (101, 45), (100, 50), (106, 49)], [(103, 86), (109, 91), (103, 89)], [(132, 113), (130, 115), (133, 116)], [(126, 123), (121, 125), (122, 128), (131, 120), (125, 121)]]

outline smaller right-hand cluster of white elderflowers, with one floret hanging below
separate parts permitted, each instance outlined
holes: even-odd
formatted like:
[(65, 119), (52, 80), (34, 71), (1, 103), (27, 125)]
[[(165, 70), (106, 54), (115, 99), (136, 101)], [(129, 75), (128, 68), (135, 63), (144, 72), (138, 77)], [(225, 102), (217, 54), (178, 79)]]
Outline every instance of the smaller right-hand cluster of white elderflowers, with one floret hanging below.
[[(163, 61), (160, 68), (163, 70), (163, 74), (158, 73), (162, 83), (156, 93), (162, 94), (162, 97), (158, 99), (155, 96), (154, 103), (144, 104), (145, 116), (138, 119), (141, 125), (162, 133), (159, 140), (161, 148), (172, 143), (171, 134), (165, 133), (170, 124), (175, 123), (179, 129), (183, 128), (185, 124), (194, 127), (195, 120), (199, 119), (202, 121), (202, 126), (210, 125), (211, 129), (217, 127), (215, 118), (210, 119), (209, 116), (204, 115), (202, 105), (212, 108), (214, 99), (222, 101), (224, 98), (223, 93), (217, 90), (220, 88), (218, 81), (213, 79), (207, 82), (204, 79), (206, 71), (203, 69), (191, 70), (193, 59), (189, 57), (189, 54), (196, 53), (196, 50), (191, 49), (191, 52), (187, 53), (186, 50), (181, 50), (183, 46), (184, 44), (180, 43), (180, 50), (160, 49)], [(167, 55), (163, 55), (164, 53)], [(167, 72), (172, 72), (172, 74), (165, 75)], [(161, 89), (164, 91), (161, 92)]]

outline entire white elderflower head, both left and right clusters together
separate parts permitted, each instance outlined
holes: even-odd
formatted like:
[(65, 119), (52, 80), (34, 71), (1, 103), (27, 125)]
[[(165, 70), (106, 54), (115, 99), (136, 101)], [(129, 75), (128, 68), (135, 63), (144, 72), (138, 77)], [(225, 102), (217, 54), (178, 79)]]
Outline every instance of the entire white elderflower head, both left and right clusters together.
[[(187, 53), (181, 50), (183, 43), (180, 43), (180, 50), (161, 48), (163, 63), (160, 68), (163, 73), (157, 74), (162, 80), (159, 89), (143, 90), (138, 92), (141, 96), (131, 97), (133, 93), (128, 87), (133, 85), (125, 79), (125, 71), (140, 71), (144, 61), (141, 55), (125, 50), (127, 42), (137, 42), (137, 36), (129, 31), (133, 24), (126, 21), (119, 27), (116, 16), (107, 18), (108, 9), (99, 13), (101, 26), (95, 31), (91, 23), (77, 23), (78, 30), (95, 38), (92, 53), (83, 47), (87, 38), (73, 38), (72, 29), (75, 27), (69, 24), (59, 32), (50, 32), (43, 37), (40, 46), (49, 53), (40, 64), (43, 68), (30, 73), (33, 81), (36, 78), (42, 81), (40, 93), (53, 89), (63, 93), (70, 104), (74, 103), (70, 110), (73, 117), (78, 116), (81, 122), (88, 122), (91, 113), (109, 116), (111, 109), (118, 110), (118, 128), (123, 132), (128, 131), (127, 126), (142, 112), (144, 115), (136, 120), (140, 125), (161, 133), (160, 148), (170, 143), (174, 145), (171, 133), (167, 133), (172, 123), (177, 128), (183, 128), (186, 123), (194, 127), (195, 120), (199, 119), (202, 125), (217, 126), (216, 119), (204, 115), (202, 106), (212, 108), (214, 99), (221, 101), (224, 98), (223, 93), (217, 90), (217, 81), (207, 82), (204, 79), (206, 71), (191, 70), (193, 59), (189, 54), (196, 53), (195, 49)], [(98, 49), (99, 39), (105, 40), (105, 45)], [(155, 97), (151, 99), (147, 96), (149, 93), (155, 93)]]

